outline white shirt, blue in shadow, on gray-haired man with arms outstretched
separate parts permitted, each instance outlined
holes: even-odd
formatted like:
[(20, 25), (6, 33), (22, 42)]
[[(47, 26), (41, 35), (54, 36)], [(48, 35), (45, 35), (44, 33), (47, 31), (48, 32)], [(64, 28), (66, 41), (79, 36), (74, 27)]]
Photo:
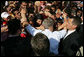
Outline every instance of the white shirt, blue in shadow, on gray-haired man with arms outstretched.
[(45, 34), (50, 41), (50, 52), (58, 54), (58, 44), (60, 42), (60, 39), (63, 38), (66, 34), (66, 30), (51, 32), (49, 29), (45, 29), (44, 31), (42, 31), (35, 29), (31, 25), (28, 25), (26, 29), (32, 36), (35, 36), (38, 32)]

